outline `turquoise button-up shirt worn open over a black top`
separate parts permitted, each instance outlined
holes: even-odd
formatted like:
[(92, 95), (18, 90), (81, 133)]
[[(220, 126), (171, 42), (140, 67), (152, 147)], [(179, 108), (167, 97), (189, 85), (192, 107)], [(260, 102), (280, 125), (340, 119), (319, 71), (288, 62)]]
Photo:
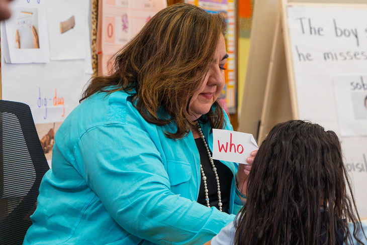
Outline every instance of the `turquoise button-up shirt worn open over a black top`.
[[(148, 123), (130, 99), (123, 91), (96, 93), (65, 119), (24, 244), (202, 244), (234, 219), (235, 179), (232, 214), (197, 203), (192, 133), (168, 139), (164, 131), (174, 126)], [(209, 124), (202, 129), (212, 147)], [(235, 175), (238, 165), (223, 163)]]

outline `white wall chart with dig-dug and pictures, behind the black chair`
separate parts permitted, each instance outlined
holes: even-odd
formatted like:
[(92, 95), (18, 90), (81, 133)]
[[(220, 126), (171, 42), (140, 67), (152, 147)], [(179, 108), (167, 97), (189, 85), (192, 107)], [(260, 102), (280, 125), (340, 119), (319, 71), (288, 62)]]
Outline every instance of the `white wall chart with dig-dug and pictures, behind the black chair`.
[[(90, 1), (14, 0), (10, 7), (12, 18), (3, 22), (4, 28), (0, 30), (4, 54), (1, 56), (2, 99), (30, 106), (43, 151), (51, 167), (55, 133), (79, 104), (82, 90), (91, 77)], [(47, 22), (50, 14), (60, 10), (65, 15), (55, 14), (55, 23)], [(39, 37), (38, 48), (35, 46), (35, 34)], [(19, 40), (18, 44), (16, 40)], [(80, 50), (73, 50), (69, 42)], [(8, 58), (7, 50), (11, 51), (8, 52)], [(14, 56), (17, 53), (13, 51), (23, 53), (18, 57)], [(37, 52), (42, 53), (42, 59)], [(27, 56), (25, 54), (30, 56), (23, 57)]]

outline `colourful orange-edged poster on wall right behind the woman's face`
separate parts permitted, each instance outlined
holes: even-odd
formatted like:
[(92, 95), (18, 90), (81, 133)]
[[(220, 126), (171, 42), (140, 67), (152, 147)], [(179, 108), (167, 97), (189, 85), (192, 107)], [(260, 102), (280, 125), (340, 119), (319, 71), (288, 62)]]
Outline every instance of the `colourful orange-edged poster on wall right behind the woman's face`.
[(209, 13), (221, 13), (225, 16), (227, 22), (225, 39), (229, 57), (225, 70), (226, 85), (219, 99), (227, 113), (235, 113), (237, 111), (235, 0), (185, 0), (185, 3), (199, 6)]

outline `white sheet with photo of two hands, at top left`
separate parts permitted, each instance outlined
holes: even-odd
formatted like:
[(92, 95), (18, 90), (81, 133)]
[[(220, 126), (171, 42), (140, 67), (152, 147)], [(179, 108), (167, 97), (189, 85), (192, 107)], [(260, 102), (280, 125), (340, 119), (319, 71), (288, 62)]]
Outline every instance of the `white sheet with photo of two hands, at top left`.
[(45, 1), (14, 1), (10, 7), (12, 17), (5, 22), (8, 45), (4, 47), (8, 62), (49, 62)]

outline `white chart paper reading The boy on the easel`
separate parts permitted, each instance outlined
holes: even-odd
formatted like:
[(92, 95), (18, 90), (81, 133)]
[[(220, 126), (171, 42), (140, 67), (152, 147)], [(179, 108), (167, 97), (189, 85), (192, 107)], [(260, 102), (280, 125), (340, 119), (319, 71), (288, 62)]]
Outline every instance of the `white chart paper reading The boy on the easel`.
[[(354, 124), (361, 120), (356, 119), (358, 115), (355, 117), (353, 111), (355, 95), (346, 91), (344, 85), (335, 87), (333, 78), (355, 76), (360, 80), (361, 75), (367, 78), (364, 76), (366, 13), (365, 4), (354, 8), (348, 4), (304, 6), (292, 3), (287, 7), (299, 116), (339, 136), (361, 216), (367, 215), (367, 168), (360, 168), (367, 156), (367, 137), (361, 136), (367, 127), (363, 129), (362, 125)], [(361, 115), (361, 112), (356, 113)], [(348, 129), (352, 132), (345, 132)], [(358, 135), (344, 137), (355, 133)]]

